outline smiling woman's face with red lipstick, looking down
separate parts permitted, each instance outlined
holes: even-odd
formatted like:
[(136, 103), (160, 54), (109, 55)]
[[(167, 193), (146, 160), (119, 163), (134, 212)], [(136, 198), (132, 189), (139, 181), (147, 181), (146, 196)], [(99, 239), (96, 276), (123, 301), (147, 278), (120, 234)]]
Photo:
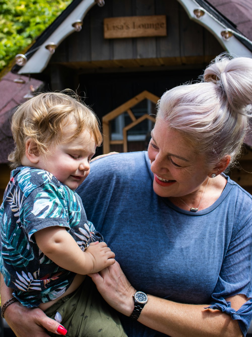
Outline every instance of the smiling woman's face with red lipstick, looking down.
[(148, 147), (153, 189), (163, 197), (196, 194), (210, 175), (204, 156), (197, 154), (179, 131), (169, 128), (162, 119), (152, 130)]

